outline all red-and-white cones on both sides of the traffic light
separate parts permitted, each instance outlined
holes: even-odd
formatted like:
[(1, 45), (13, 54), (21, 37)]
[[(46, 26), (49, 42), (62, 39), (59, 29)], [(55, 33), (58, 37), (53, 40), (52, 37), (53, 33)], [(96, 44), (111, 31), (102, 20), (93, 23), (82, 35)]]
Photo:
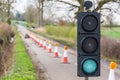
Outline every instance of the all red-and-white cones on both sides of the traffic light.
[[(47, 46), (46, 46), (46, 40), (42, 39), (39, 37), (39, 39), (36, 40), (36, 38), (34, 36), (30, 36), (30, 38), (36, 43), (36, 44), (39, 44), (40, 47), (43, 47), (44, 50), (47, 49)], [(58, 53), (58, 46), (59, 44), (58, 43), (55, 43), (54, 44), (55, 46), (55, 50), (54, 50), (54, 57), (55, 58), (58, 58), (59, 57), (59, 53)], [(68, 47), (67, 46), (64, 46), (64, 54), (63, 54), (63, 58), (62, 58), (62, 62), (63, 63), (68, 63), (68, 57), (67, 57), (67, 51), (68, 51)], [(49, 41), (49, 44), (48, 44), (48, 52), (49, 53), (52, 53), (53, 50), (52, 50), (52, 41)], [(115, 69), (117, 68), (117, 63), (115, 62), (111, 62), (110, 63), (110, 73), (109, 73), (109, 77), (108, 77), (108, 80), (115, 80)]]

